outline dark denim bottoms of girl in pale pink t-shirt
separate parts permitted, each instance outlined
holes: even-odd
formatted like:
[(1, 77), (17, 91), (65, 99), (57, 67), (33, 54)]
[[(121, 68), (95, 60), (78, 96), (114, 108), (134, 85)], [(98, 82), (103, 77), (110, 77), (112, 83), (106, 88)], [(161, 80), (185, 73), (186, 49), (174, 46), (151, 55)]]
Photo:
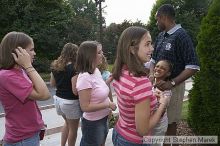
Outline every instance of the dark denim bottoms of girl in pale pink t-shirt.
[(80, 146), (100, 146), (105, 143), (108, 134), (108, 116), (89, 121), (82, 118), (82, 138)]

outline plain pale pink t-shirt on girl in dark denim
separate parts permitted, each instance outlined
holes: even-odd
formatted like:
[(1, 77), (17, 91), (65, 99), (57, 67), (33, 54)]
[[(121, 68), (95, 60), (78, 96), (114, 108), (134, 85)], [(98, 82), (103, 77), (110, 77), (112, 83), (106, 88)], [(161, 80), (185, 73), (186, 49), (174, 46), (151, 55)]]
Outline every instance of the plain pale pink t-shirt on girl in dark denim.
[[(102, 79), (102, 75), (97, 68), (93, 74), (89, 74), (88, 72), (80, 73), (77, 78), (76, 88), (78, 92), (84, 89), (92, 89), (91, 103), (109, 103), (109, 87)], [(83, 117), (87, 120), (96, 121), (107, 116), (109, 112), (109, 108), (95, 112), (84, 112)]]

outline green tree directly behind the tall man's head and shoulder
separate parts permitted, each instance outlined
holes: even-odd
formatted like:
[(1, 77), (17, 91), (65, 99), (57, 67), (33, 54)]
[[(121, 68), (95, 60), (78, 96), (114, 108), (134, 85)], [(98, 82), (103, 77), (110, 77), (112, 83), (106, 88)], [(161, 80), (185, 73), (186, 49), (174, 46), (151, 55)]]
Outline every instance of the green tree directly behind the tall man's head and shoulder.
[(199, 26), (202, 18), (207, 13), (210, 1), (211, 0), (157, 0), (151, 10), (151, 16), (148, 22), (148, 28), (153, 40), (155, 40), (159, 33), (155, 20), (157, 9), (163, 4), (172, 4), (176, 10), (176, 22), (180, 23), (188, 31), (196, 46), (196, 36), (199, 32)]

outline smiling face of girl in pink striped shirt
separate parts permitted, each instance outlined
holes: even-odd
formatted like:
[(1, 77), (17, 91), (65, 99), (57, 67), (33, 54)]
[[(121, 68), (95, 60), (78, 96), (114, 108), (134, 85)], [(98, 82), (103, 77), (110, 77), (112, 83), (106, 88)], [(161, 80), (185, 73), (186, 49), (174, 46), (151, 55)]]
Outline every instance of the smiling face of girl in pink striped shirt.
[(152, 40), (150, 34), (147, 32), (141, 39), (138, 49), (138, 57), (140, 60), (145, 63), (147, 61), (150, 61), (151, 54), (153, 52), (153, 47), (151, 45)]

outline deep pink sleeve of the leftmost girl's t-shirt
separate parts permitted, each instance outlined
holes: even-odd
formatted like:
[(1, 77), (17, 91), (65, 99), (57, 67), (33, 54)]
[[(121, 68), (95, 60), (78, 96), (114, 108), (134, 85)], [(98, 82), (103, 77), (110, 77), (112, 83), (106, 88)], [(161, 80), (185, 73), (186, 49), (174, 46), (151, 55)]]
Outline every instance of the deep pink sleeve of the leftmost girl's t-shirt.
[(33, 90), (33, 85), (25, 77), (20, 75), (10, 76), (5, 83), (5, 88), (21, 102), (25, 102)]

